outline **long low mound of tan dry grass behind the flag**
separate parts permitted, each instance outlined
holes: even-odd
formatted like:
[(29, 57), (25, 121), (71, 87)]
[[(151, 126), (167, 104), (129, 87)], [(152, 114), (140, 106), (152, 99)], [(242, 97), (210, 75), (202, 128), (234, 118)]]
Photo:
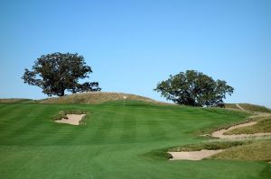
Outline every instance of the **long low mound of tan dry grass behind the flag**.
[(81, 103), (81, 104), (106, 103), (112, 101), (124, 101), (124, 96), (126, 96), (126, 101), (161, 103), (140, 95), (123, 94), (123, 93), (106, 93), (106, 92), (70, 94), (61, 97), (45, 99), (42, 100), (40, 103)]

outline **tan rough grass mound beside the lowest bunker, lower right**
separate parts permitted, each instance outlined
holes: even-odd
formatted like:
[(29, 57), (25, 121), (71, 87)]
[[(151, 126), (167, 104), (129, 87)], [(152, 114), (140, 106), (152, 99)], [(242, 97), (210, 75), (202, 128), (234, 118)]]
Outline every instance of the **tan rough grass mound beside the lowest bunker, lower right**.
[(271, 161), (271, 140), (255, 141), (248, 145), (229, 148), (212, 159), (246, 160), (246, 161)]

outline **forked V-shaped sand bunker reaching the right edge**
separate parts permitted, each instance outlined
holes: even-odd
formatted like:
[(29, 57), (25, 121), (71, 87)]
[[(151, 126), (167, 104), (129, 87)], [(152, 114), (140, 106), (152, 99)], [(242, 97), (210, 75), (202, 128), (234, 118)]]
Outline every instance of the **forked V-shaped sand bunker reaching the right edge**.
[(236, 126), (232, 126), (229, 129), (225, 130), (217, 130), (214, 131), (211, 136), (212, 137), (216, 137), (216, 138), (220, 138), (220, 139), (234, 139), (234, 138), (248, 138), (248, 137), (259, 137), (259, 136), (268, 136), (271, 135), (271, 132), (266, 132), (266, 133), (254, 133), (254, 134), (233, 134), (233, 135), (224, 135), (225, 132), (228, 132), (229, 130), (235, 130), (238, 128), (242, 128), (242, 127), (247, 127), (247, 126), (252, 126), (257, 124), (257, 121), (251, 121), (248, 123), (244, 123), (244, 124), (238, 124)]

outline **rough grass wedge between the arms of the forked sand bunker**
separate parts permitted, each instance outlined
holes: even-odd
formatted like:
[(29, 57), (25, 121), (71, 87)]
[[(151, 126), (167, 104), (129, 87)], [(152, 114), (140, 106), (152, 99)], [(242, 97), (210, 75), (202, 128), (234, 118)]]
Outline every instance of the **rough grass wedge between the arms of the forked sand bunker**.
[(254, 134), (254, 133), (265, 133), (271, 132), (271, 116), (257, 119), (257, 124), (253, 126), (238, 128), (225, 132), (227, 135), (231, 134)]

